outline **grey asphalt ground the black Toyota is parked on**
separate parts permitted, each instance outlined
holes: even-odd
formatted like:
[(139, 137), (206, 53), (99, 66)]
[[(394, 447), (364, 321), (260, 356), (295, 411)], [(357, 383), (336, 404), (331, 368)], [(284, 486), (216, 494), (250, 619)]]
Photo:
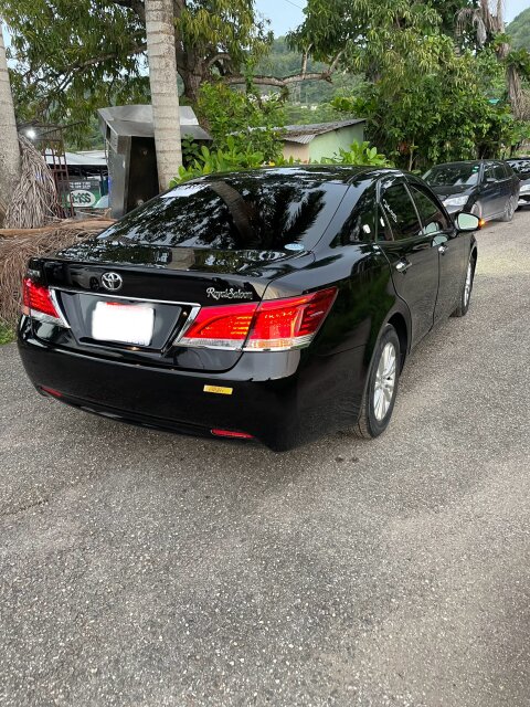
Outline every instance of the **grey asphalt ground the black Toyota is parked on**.
[(0, 347), (0, 705), (529, 705), (530, 213), (478, 239), (374, 442), (128, 428)]

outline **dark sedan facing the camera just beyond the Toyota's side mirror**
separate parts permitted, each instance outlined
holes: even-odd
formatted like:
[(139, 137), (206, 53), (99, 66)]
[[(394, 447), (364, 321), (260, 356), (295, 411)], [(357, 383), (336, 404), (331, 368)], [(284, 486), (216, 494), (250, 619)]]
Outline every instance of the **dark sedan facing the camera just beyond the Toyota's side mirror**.
[(511, 221), (519, 179), (506, 162), (476, 160), (436, 165), (423, 177), (449, 213), (468, 211), (484, 221)]

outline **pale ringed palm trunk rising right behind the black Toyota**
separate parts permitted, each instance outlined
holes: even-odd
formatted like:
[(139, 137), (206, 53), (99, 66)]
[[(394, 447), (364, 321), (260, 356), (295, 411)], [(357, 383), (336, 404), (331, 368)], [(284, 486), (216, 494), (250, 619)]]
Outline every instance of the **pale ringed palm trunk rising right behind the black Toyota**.
[(158, 183), (163, 191), (182, 165), (173, 0), (146, 0), (145, 8)]

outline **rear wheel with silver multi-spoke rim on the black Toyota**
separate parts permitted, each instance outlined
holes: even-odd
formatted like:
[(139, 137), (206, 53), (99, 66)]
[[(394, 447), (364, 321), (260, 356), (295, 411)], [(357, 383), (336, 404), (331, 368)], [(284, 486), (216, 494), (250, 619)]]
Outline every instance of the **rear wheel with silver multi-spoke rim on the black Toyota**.
[(375, 346), (359, 421), (353, 430), (356, 436), (372, 440), (386, 430), (398, 394), (400, 361), (400, 339), (389, 324)]

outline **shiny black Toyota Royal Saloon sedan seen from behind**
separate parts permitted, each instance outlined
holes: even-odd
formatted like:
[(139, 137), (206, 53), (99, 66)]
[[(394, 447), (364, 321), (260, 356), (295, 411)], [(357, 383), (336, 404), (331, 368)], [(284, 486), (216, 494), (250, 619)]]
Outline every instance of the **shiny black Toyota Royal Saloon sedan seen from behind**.
[(33, 258), (20, 354), (41, 393), (117, 420), (278, 451), (375, 437), (411, 349), (467, 312), (478, 223), (398, 170), (201, 178)]

